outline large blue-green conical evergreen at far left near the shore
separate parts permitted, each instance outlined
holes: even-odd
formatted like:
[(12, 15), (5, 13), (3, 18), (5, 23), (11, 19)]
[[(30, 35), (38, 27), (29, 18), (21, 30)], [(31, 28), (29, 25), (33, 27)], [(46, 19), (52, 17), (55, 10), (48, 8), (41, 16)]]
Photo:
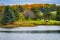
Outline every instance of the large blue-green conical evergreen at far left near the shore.
[(9, 6), (6, 6), (5, 11), (2, 15), (2, 24), (11, 23), (14, 22), (14, 20), (15, 20), (15, 16), (12, 9)]

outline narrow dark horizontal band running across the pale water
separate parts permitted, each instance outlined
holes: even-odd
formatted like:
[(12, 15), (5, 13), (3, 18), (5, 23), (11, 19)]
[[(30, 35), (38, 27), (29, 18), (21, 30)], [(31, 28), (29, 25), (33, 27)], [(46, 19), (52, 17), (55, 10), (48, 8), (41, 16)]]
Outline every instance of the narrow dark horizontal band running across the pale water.
[(60, 30), (45, 30), (45, 31), (0, 31), (5, 33), (60, 33)]

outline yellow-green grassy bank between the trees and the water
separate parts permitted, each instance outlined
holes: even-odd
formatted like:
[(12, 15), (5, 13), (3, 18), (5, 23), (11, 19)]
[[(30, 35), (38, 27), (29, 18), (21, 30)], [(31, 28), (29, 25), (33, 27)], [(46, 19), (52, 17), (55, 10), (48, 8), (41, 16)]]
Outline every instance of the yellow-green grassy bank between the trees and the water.
[(44, 20), (25, 20), (25, 21), (18, 21), (14, 24), (2, 25), (0, 27), (3, 28), (14, 28), (14, 27), (34, 27), (38, 25), (58, 25), (60, 26), (60, 21), (49, 20), (48, 22)]

